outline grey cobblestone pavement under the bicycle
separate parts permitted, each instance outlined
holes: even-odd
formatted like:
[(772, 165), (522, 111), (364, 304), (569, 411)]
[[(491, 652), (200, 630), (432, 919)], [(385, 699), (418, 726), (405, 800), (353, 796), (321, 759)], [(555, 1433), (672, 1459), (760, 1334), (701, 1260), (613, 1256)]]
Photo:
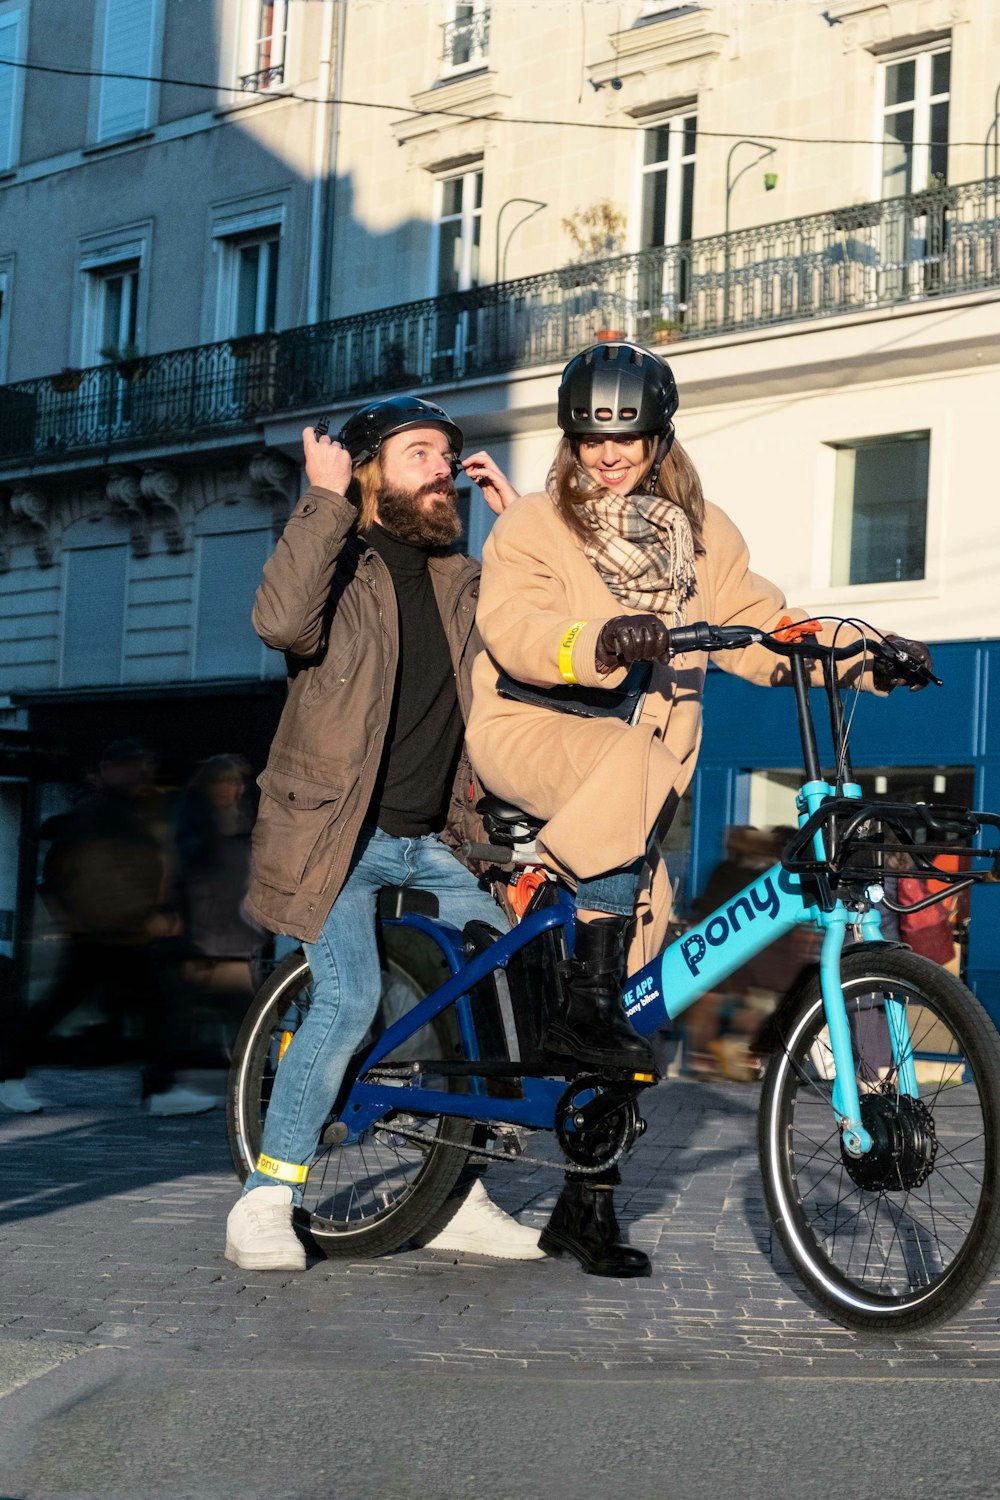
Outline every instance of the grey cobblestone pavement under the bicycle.
[[(649, 1128), (624, 1167), (619, 1218), (654, 1275), (633, 1282), (564, 1260), (427, 1251), (312, 1262), (300, 1275), (240, 1272), (222, 1256), (237, 1184), (220, 1110), (150, 1119), (135, 1107), (133, 1076), (115, 1070), (49, 1071), (36, 1086), (63, 1107), (0, 1119), (0, 1394), (4, 1347), (31, 1371), (81, 1347), (229, 1365), (294, 1348), (303, 1365), (559, 1378), (1000, 1368), (1000, 1280), (922, 1336), (859, 1336), (802, 1300), (772, 1260), (754, 1086), (676, 1078), (646, 1095)], [(487, 1179), (502, 1208), (540, 1228), (558, 1184), (516, 1164)]]

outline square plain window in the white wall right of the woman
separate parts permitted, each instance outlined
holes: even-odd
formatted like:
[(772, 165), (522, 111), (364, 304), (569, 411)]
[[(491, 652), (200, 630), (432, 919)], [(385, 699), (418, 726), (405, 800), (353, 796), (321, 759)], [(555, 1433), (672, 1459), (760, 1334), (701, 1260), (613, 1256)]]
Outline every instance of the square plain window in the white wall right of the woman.
[(835, 447), (831, 584), (924, 578), (930, 432)]

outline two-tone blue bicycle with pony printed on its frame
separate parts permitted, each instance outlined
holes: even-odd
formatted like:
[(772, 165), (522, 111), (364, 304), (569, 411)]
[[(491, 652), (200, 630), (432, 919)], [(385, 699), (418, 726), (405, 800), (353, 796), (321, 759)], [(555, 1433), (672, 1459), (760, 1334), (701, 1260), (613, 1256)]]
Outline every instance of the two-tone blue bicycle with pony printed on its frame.
[[(856, 624), (856, 622), (853, 622)], [(870, 627), (865, 627), (870, 630)], [(796, 639), (798, 636), (798, 639)], [(862, 634), (696, 624), (675, 650), (756, 644), (781, 656), (793, 687), (805, 782), (799, 828), (771, 870), (633, 974), (625, 1006), (655, 1035), (795, 926), (822, 952), (781, 1002), (759, 1113), (768, 1209), (807, 1292), (856, 1329), (928, 1328), (951, 1317), (1000, 1251), (1000, 1038), (954, 975), (880, 934), (894, 872), (943, 882), (928, 904), (1000, 876), (1000, 818), (942, 804), (865, 801), (853, 780), (850, 716), (837, 663), (889, 654), (912, 682), (927, 668)], [(820, 662), (835, 765), (820, 770), (808, 662)], [(934, 680), (937, 681), (937, 680)], [(331, 1257), (381, 1256), (438, 1210), (469, 1160), (606, 1172), (642, 1134), (654, 1074), (579, 1071), (546, 1053), (573, 950), (568, 890), (534, 854), (538, 824), (496, 798), (480, 804), (489, 843), (468, 848), (519, 916), (499, 933), (435, 920), (426, 892), (382, 892), (382, 1008), (348, 1070), (310, 1168), (303, 1226)], [(984, 832), (991, 840), (984, 842)], [(958, 855), (942, 872), (936, 855)], [(945, 884), (951, 882), (951, 884)], [(528, 892), (531, 892), (528, 896)], [(229, 1078), (229, 1144), (244, 1179), (274, 1074), (310, 1004), (301, 952), (252, 1002)]]

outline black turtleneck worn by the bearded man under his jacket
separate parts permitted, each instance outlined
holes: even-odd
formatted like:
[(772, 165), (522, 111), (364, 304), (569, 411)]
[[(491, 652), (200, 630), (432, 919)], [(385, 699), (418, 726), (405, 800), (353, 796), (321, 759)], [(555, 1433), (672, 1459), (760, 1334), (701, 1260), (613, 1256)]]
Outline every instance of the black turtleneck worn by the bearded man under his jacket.
[(427, 570), (429, 549), (400, 542), (379, 525), (367, 540), (390, 572), (399, 609), (393, 710), (367, 822), (396, 838), (418, 838), (445, 825), (462, 748), (462, 710)]

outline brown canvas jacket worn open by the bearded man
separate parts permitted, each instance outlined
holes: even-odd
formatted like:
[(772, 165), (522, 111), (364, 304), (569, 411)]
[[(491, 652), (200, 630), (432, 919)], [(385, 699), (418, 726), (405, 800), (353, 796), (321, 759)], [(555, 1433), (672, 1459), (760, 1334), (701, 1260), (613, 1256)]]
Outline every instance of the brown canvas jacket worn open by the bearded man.
[[(261, 639), (285, 652), (288, 700), (265, 770), (253, 828), (249, 914), (271, 932), (315, 942), (348, 873), (375, 788), (393, 702), (399, 626), (388, 568), (358, 538), (357, 510), (313, 486), (295, 506), (253, 603)], [(430, 560), (462, 714), (471, 670), (480, 564)], [(441, 834), (456, 849), (478, 838), (480, 795), (463, 750)]]

